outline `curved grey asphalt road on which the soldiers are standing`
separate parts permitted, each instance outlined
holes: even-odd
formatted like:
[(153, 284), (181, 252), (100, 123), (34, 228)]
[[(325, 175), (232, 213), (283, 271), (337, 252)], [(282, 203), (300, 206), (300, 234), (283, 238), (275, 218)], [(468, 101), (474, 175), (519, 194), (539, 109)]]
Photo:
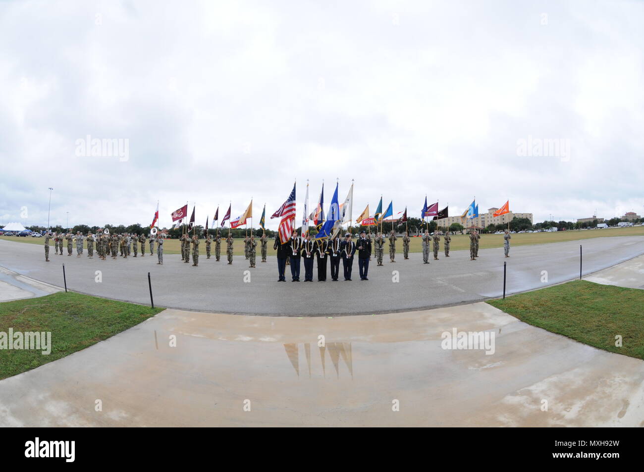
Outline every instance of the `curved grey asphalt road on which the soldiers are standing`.
[[(579, 276), (580, 243), (583, 274), (644, 254), (641, 236), (605, 237), (515, 247), (507, 259), (502, 248), (480, 250), (477, 261), (469, 261), (469, 252), (460, 250), (452, 252), (450, 258), (441, 254), (440, 260), (423, 265), (422, 254), (412, 253), (410, 260), (399, 255), (397, 262), (385, 262), (384, 267), (376, 267), (372, 260), (369, 281), (359, 279), (355, 262), (350, 282), (278, 283), (274, 258), (269, 258), (268, 263), (258, 262), (256, 269), (249, 269), (242, 256), (236, 257), (233, 265), (227, 265), (223, 258), (216, 262), (202, 255), (199, 267), (182, 263), (178, 255), (165, 256), (164, 265), (156, 265), (156, 257), (150, 256), (101, 261), (86, 256), (52, 255), (52, 261), (46, 263), (42, 247), (0, 240), (0, 266), (62, 286), (64, 263), (71, 290), (135, 303), (149, 303), (147, 272), (151, 272), (155, 304), (160, 307), (334, 316), (439, 307), (498, 297), (503, 290), (504, 261), (507, 261), (507, 294), (571, 280)], [(100, 282), (96, 281), (97, 270), (101, 271)], [(247, 270), (251, 277), (245, 282)], [(399, 277), (397, 283), (393, 281), (394, 270)], [(544, 271), (547, 282), (543, 281)]]

